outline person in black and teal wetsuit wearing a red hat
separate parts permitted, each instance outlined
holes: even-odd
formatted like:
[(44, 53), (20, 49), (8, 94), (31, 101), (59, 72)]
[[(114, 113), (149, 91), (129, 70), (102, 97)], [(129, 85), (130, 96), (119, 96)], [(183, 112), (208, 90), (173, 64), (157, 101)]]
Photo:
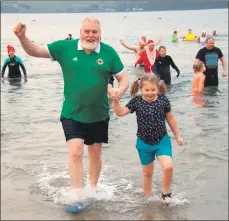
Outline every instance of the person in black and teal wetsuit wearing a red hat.
[(25, 66), (21, 58), (15, 55), (14, 47), (11, 45), (8, 45), (7, 51), (8, 51), (8, 57), (5, 59), (3, 67), (2, 67), (2, 78), (4, 77), (5, 70), (7, 67), (9, 68), (9, 73), (8, 73), (9, 78), (21, 78), (20, 67), (23, 71), (24, 77), (27, 78)]

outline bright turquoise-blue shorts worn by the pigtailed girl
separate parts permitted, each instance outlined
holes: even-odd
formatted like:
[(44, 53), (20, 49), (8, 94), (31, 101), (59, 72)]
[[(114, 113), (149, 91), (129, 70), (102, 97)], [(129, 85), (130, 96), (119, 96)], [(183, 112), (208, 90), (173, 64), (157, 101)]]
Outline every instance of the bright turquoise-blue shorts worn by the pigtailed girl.
[(158, 144), (151, 145), (137, 138), (136, 148), (142, 165), (148, 165), (155, 160), (155, 155), (170, 156), (172, 158), (172, 145), (168, 134), (166, 134)]

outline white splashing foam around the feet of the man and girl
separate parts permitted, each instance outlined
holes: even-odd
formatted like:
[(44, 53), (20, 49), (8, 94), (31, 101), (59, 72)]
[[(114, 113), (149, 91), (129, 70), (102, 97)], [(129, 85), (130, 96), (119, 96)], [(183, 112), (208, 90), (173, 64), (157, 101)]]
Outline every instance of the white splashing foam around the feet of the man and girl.
[[(140, 205), (151, 201), (161, 202), (159, 197), (161, 186), (157, 187), (155, 184), (152, 197), (145, 200), (142, 186), (134, 186), (134, 180), (131, 180), (128, 176), (114, 181), (110, 181), (110, 179), (110, 176), (101, 173), (97, 188), (90, 188), (87, 177), (86, 187), (79, 193), (79, 191), (71, 189), (67, 170), (51, 174), (47, 171), (47, 168), (44, 168), (38, 176), (37, 188), (43, 200), (53, 201), (56, 204), (69, 204), (79, 200), (128, 202), (129, 205), (136, 205), (136, 203)], [(190, 204), (190, 202), (186, 199), (185, 193), (172, 193), (170, 206), (186, 204)]]

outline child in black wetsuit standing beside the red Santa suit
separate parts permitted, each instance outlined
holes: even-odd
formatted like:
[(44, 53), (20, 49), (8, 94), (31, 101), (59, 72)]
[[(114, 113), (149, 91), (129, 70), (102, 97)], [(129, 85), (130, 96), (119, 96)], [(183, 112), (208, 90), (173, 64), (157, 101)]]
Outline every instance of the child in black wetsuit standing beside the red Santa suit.
[(170, 85), (171, 84), (170, 65), (172, 66), (173, 69), (176, 70), (177, 77), (180, 76), (180, 70), (173, 62), (171, 56), (166, 55), (166, 47), (160, 46), (159, 54), (160, 56), (156, 58), (154, 63), (155, 73), (161, 80), (164, 80), (166, 85)]

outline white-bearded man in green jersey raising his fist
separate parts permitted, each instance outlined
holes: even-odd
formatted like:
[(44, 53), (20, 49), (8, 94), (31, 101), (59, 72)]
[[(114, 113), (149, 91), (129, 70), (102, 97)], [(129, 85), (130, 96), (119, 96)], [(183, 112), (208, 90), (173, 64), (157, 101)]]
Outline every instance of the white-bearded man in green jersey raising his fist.
[[(94, 17), (82, 21), (80, 39), (59, 40), (38, 46), (25, 34), (25, 24), (18, 23), (14, 33), (25, 52), (33, 57), (51, 58), (63, 71), (64, 102), (61, 122), (69, 150), (69, 174), (75, 202), (67, 211), (85, 209), (83, 150), (88, 145), (90, 187), (96, 188), (101, 171), (102, 143), (108, 143), (109, 103), (119, 99), (127, 90), (129, 80), (116, 51), (100, 42), (100, 22)], [(109, 78), (115, 76), (118, 88), (108, 88)]]

